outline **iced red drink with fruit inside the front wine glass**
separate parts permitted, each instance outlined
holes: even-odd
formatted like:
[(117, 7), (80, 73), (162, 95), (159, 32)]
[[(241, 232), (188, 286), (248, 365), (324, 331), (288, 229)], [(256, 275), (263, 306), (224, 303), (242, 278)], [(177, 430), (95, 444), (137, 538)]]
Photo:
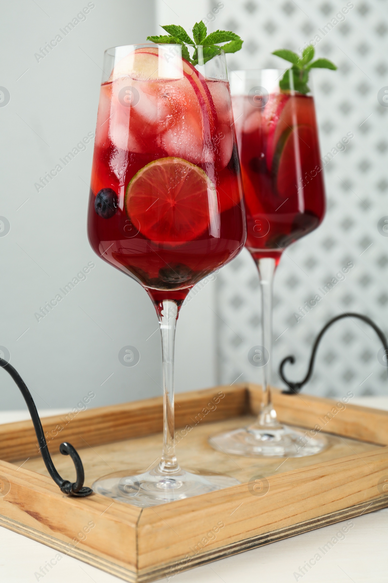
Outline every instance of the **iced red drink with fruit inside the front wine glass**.
[[(141, 55), (158, 59), (157, 50)], [(113, 77), (102, 84), (99, 101), (88, 236), (94, 251), (141, 283), (155, 303), (183, 300), (241, 250), (246, 236), (229, 85), (205, 80), (186, 61), (183, 72), (172, 80)], [(130, 106), (122, 98), (126, 87)], [(126, 197), (139, 170), (167, 157), (187, 161), (187, 171), (167, 161), (166, 175)], [(197, 195), (201, 180), (210, 188)], [(104, 188), (118, 196), (109, 218), (95, 210)]]

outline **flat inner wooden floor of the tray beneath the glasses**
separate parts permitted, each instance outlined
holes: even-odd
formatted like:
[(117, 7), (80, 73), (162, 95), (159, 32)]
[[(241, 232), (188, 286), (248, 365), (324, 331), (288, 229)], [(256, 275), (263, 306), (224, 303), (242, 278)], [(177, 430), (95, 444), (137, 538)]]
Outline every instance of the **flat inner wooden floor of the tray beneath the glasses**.
[[(225, 455), (208, 446), (208, 438), (219, 431), (237, 429), (253, 422), (253, 416), (232, 417), (230, 419), (207, 423), (198, 423), (190, 433), (176, 431), (177, 456), (184, 468), (212, 468), (216, 472), (226, 473), (236, 477), (240, 482), (248, 482), (254, 475), (272, 476), (280, 472), (311, 466), (311, 463), (329, 462), (348, 455), (361, 455), (366, 451), (375, 450), (375, 445), (348, 437), (335, 436), (326, 433), (328, 448), (321, 453), (305, 458), (245, 458), (237, 455)], [(110, 442), (102, 445), (88, 446), (78, 449), (83, 461), (86, 485), (91, 486), (94, 480), (108, 473), (127, 469), (128, 475), (140, 473), (159, 461), (162, 449), (162, 434), (132, 438), (129, 440)], [(52, 454), (52, 459), (63, 476), (75, 476), (72, 460), (59, 452)], [(33, 470), (49, 476), (41, 457), (20, 458), (13, 461), (16, 466)]]

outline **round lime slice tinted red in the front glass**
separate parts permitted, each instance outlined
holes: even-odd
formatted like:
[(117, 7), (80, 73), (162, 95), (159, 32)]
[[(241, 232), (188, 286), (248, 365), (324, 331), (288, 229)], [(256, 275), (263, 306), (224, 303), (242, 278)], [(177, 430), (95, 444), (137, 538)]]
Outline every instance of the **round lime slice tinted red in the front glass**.
[(151, 241), (185, 243), (200, 236), (218, 213), (215, 186), (201, 168), (181, 158), (154, 160), (127, 186), (127, 216)]

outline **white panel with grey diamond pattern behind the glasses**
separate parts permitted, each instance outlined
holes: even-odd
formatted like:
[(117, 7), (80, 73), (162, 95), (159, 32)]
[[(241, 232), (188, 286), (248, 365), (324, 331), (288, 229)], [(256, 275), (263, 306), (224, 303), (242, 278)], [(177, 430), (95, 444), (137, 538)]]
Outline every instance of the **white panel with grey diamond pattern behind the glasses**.
[[(244, 39), (240, 52), (227, 55), (230, 70), (280, 68), (284, 62), (272, 51), (300, 52), (313, 39), (316, 57), (339, 67), (312, 75), (328, 210), (317, 230), (287, 248), (275, 275), (273, 384), (283, 387), (280, 361), (293, 354), (296, 364), (286, 374), (301, 380), (316, 335), (334, 315), (365, 314), (388, 334), (387, 2), (226, 0), (209, 10), (216, 14), (212, 30)], [(248, 352), (261, 344), (261, 298), (246, 250), (220, 271), (216, 286), (218, 380), (260, 382), (261, 369), (250, 364)], [(302, 310), (316, 294), (322, 300)], [(388, 394), (380, 349), (372, 328), (340, 320), (326, 332), (304, 391)]]

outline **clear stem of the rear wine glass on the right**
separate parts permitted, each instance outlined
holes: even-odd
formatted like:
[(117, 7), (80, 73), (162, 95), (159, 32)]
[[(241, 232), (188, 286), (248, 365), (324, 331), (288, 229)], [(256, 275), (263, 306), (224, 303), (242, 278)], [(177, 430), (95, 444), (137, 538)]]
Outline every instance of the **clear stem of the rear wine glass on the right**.
[(255, 429), (258, 427), (278, 427), (276, 411), (273, 409), (271, 398), (272, 382), (272, 289), (276, 262), (272, 257), (262, 257), (257, 261), (261, 287), (262, 305), (262, 346), (264, 347), (264, 366), (262, 384), (261, 410)]

